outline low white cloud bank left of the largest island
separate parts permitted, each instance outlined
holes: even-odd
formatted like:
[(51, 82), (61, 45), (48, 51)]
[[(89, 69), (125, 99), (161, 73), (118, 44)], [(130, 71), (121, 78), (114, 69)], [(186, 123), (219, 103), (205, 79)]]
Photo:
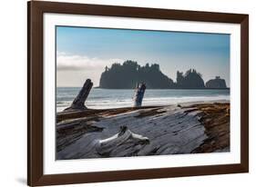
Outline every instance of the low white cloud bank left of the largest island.
[(97, 57), (88, 57), (87, 55), (66, 54), (63, 52), (56, 53), (57, 70), (98, 70), (113, 63), (123, 63), (122, 59), (102, 59)]

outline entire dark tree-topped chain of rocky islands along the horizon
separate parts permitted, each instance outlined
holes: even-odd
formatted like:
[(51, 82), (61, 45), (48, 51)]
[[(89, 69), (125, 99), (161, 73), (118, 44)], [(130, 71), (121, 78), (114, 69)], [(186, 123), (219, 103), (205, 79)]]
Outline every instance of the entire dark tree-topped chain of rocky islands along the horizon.
[(160, 71), (159, 64), (141, 66), (131, 60), (106, 66), (98, 88), (133, 89), (137, 83), (145, 83), (148, 89), (228, 89), (220, 76), (204, 84), (202, 75), (195, 69), (189, 69), (185, 74), (178, 71), (174, 82)]

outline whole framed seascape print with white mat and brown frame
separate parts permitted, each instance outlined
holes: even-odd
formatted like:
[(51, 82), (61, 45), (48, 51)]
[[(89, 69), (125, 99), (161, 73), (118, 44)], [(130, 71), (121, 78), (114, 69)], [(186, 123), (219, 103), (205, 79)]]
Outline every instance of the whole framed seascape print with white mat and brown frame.
[(249, 15), (27, 8), (28, 185), (249, 171)]

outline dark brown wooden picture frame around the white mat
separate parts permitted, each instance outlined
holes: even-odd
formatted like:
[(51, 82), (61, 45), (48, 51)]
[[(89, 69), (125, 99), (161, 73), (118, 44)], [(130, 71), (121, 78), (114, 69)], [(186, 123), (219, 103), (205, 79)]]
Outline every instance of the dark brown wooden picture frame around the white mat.
[[(108, 15), (241, 25), (241, 163), (113, 172), (45, 175), (43, 172), (43, 14)], [(249, 172), (249, 15), (167, 9), (28, 2), (27, 5), (27, 184), (111, 182)]]

